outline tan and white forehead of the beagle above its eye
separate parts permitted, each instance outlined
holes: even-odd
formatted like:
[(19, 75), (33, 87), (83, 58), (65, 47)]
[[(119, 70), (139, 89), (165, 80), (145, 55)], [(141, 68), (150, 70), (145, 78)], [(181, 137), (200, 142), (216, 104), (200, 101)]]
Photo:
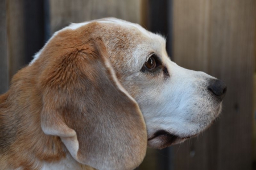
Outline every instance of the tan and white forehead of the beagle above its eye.
[(104, 39), (110, 60), (115, 67), (138, 71), (147, 57), (156, 53), (160, 58), (166, 58), (166, 40), (155, 33), (149, 32), (141, 25), (115, 18), (92, 20), (90, 22), (71, 24), (67, 29), (78, 29), (90, 23), (97, 22), (104, 27), (96, 32)]

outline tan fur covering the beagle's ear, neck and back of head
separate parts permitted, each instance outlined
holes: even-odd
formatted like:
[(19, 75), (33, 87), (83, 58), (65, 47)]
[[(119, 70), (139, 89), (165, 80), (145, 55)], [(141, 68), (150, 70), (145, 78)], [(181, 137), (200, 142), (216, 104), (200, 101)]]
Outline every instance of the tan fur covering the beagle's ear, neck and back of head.
[[(0, 96), (3, 169), (40, 169), (43, 162), (65, 159), (68, 152), (61, 140), (71, 133), (69, 130), (76, 132), (79, 151), (75, 159), (83, 164), (90, 156), (98, 156), (96, 163), (104, 164), (101, 161), (108, 157), (106, 153), (110, 154), (109, 166), (117, 164), (115, 169), (135, 168), (142, 162), (147, 146), (146, 126), (138, 104), (119, 90), (113, 78), (105, 49), (105, 45), (111, 48), (113, 44), (105, 40), (104, 45), (101, 39), (108, 37), (95, 34), (103, 30), (92, 23), (76, 31), (60, 32), (33, 65), (14, 76), (10, 90)], [(114, 29), (109, 36), (113, 33)], [(124, 32), (117, 41), (127, 39)], [(113, 48), (119, 48), (119, 53), (112, 55), (122, 55), (121, 49), (126, 48), (126, 44), (117, 44)], [(121, 67), (115, 62), (113, 65), (117, 70)], [(63, 135), (47, 135), (41, 125), (56, 128)], [(102, 134), (93, 134), (96, 132)], [(99, 168), (97, 164), (93, 165)]]

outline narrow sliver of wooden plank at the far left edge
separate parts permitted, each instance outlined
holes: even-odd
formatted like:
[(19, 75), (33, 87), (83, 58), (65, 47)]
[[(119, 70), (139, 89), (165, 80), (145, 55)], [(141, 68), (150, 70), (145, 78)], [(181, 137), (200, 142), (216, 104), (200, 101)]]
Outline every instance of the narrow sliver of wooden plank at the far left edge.
[(0, 1), (0, 94), (8, 90), (9, 61), (7, 56), (6, 1)]

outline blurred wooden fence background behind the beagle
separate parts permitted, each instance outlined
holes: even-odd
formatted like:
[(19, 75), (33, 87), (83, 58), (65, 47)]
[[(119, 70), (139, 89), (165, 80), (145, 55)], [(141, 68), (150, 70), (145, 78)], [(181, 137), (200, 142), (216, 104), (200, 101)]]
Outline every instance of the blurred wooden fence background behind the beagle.
[(255, 0), (1, 0), (0, 94), (55, 31), (107, 16), (125, 19), (166, 36), (178, 65), (228, 86), (210, 129), (181, 145), (148, 148), (137, 169), (256, 169), (255, 10)]

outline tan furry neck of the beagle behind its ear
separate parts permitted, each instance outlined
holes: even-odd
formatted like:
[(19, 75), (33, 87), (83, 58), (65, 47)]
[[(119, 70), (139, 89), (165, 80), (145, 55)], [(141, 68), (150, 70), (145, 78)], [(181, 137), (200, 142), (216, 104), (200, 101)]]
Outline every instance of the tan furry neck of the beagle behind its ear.
[(40, 125), (40, 112), (43, 106), (40, 91), (36, 90), (36, 80), (33, 79), (34, 76), (19, 74), (30, 73), (26, 68), (19, 71), (13, 78), (10, 90), (0, 96), (2, 168), (85, 169), (84, 165), (69, 156), (59, 137), (43, 133)]

